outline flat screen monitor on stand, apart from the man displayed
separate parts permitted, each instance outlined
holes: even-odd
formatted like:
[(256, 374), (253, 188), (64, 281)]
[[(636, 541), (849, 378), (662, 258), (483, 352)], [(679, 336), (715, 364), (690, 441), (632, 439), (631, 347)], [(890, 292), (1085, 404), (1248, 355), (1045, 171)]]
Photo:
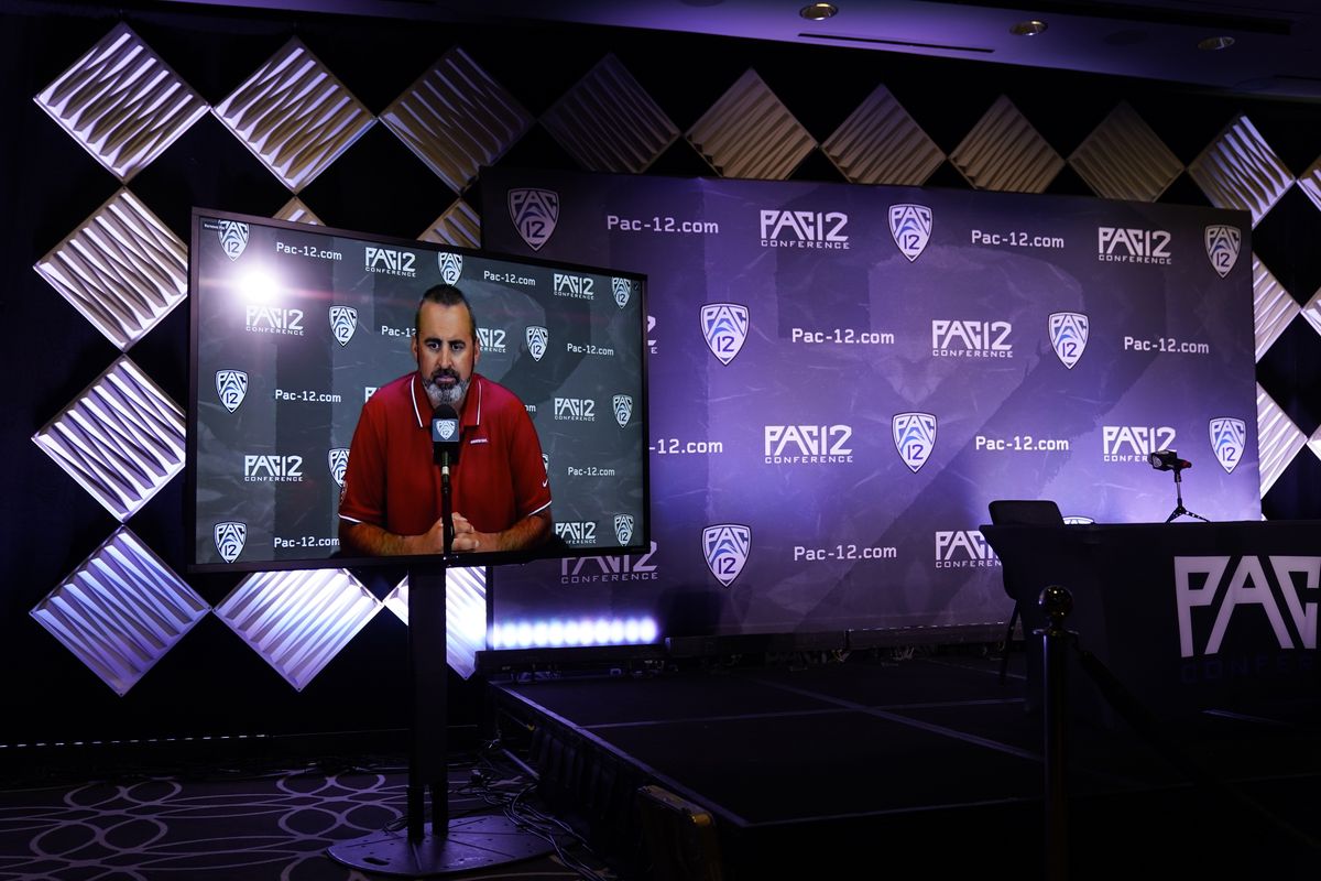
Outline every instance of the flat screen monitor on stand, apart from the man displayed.
[[(650, 547), (646, 276), (203, 209), (193, 210), (189, 258), (189, 571), (436, 561), (339, 546), (359, 416), (378, 390), (417, 376), (415, 321), (435, 285), (466, 297), (476, 372), (531, 417), (552, 518), (534, 547), (440, 559), (497, 565)], [(436, 432), (433, 415), (408, 419)], [(445, 448), (456, 476), (476, 449), (465, 445), (486, 442), (468, 431), (465, 409), (462, 437)], [(410, 468), (448, 465), (432, 448), (435, 460)]]

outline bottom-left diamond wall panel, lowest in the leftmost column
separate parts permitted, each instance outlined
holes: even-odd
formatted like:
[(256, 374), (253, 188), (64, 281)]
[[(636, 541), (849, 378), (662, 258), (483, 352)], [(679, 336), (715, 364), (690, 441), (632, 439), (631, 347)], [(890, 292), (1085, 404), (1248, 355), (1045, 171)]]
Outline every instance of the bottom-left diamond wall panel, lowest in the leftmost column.
[(30, 614), (124, 695), (207, 612), (188, 584), (120, 527)]

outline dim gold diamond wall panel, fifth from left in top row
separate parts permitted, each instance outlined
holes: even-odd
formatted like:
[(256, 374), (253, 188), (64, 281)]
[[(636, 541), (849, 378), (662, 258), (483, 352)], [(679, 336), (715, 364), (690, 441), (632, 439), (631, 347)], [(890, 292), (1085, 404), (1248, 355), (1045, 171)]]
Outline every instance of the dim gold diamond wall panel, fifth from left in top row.
[(782, 181), (816, 143), (789, 108), (749, 70), (687, 132), (724, 177)]

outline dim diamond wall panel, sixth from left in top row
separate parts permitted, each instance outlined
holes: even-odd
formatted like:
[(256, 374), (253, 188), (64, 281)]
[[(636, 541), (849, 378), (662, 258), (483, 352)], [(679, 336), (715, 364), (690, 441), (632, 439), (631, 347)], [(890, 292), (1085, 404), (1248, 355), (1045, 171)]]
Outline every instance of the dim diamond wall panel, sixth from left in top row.
[(849, 114), (822, 152), (853, 184), (921, 186), (945, 161), (890, 90), (877, 86)]

